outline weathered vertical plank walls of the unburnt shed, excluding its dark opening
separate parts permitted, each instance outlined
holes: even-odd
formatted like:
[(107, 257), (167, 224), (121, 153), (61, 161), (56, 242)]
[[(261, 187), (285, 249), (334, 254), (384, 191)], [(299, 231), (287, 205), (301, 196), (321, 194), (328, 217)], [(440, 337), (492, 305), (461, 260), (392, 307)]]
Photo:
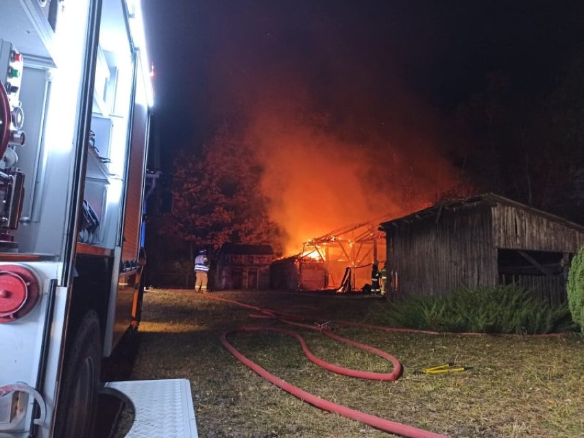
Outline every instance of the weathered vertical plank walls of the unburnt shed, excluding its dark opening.
[[(496, 285), (500, 279), (498, 248), (572, 253), (572, 248), (584, 244), (581, 231), (531, 211), (491, 203), (445, 208), (439, 220), (422, 217), (391, 229), (395, 233), (393, 248), (386, 248), (387, 259), (398, 272), (404, 295), (442, 294), (460, 285)], [(570, 248), (564, 249), (566, 246)]]

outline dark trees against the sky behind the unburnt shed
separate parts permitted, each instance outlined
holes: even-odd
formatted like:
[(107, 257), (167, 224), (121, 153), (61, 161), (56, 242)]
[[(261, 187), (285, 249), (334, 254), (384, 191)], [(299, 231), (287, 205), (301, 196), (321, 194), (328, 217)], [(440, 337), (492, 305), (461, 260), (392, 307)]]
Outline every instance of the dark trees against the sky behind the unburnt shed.
[[(496, 192), (584, 223), (584, 53), (559, 66), (547, 87), (489, 75), (457, 108), (467, 140), (457, 166), (474, 192)], [(467, 147), (469, 146), (470, 147)]]

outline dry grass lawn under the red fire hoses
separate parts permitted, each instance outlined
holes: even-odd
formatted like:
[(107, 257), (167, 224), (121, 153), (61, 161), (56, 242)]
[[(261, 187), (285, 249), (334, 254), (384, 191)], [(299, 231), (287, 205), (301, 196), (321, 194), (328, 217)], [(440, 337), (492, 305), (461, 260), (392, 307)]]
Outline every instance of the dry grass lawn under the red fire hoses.
[[(214, 292), (309, 322), (376, 324), (391, 303), (375, 298), (285, 292)], [(188, 378), (199, 437), (388, 437), (326, 413), (271, 385), (220, 343), (245, 325), (290, 328), (250, 318), (250, 309), (190, 291), (151, 290), (144, 297), (140, 348), (132, 378)], [(584, 437), (584, 339), (419, 335), (332, 324), (334, 333), (390, 352), (404, 367), (395, 382), (332, 374), (308, 361), (300, 344), (273, 332), (229, 340), (263, 368), (321, 398), (450, 437)], [(348, 368), (389, 372), (384, 359), (317, 331), (298, 330), (315, 355)], [(415, 374), (456, 362), (472, 370)]]

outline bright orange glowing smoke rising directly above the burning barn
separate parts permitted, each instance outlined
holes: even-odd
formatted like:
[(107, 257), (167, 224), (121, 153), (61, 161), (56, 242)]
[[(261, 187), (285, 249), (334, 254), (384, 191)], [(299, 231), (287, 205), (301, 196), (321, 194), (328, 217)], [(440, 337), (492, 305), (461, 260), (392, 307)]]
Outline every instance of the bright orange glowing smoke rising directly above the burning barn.
[(247, 127), (264, 168), (271, 218), (289, 235), (288, 255), (333, 229), (422, 209), (454, 183), (431, 149), (404, 153), (378, 136), (350, 141), (343, 127), (319, 118), (298, 96), (265, 95)]

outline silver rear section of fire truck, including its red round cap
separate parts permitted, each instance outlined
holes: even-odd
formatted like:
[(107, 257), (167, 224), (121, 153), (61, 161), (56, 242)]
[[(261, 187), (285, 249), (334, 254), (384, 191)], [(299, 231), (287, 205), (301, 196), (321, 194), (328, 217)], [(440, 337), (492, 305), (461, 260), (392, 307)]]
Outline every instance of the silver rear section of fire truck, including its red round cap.
[[(84, 131), (82, 108), (87, 106), (82, 99), (90, 73), (84, 62), (90, 3), (70, 2), (57, 33), (38, 1), (6, 3), (0, 42), (9, 64), (1, 66), (8, 75), (0, 80), (11, 99), (14, 137), (0, 166), (1, 216), (17, 217), (14, 223), (1, 219), (0, 387), (23, 385), (24, 391), (8, 397), (25, 400), (25, 409), (22, 418), (0, 408), (0, 435), (27, 437), (34, 430), (36, 437), (46, 438), (53, 435), (71, 305), (66, 242), (77, 227), (71, 207), (80, 186), (77, 144)], [(5, 114), (0, 118), (4, 127), (10, 123)], [(24, 179), (17, 198), (14, 175)], [(33, 415), (43, 416), (42, 424), (33, 424)]]

